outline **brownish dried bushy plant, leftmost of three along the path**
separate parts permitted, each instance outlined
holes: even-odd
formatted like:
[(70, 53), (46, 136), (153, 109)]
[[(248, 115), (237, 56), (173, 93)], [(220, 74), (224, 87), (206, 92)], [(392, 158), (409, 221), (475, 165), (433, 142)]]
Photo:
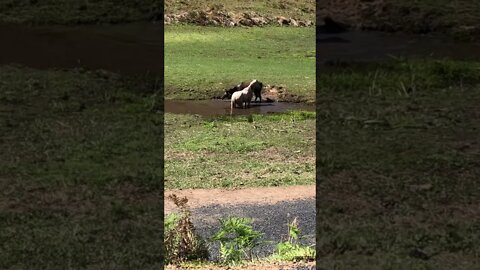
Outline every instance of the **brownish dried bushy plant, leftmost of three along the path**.
[(168, 199), (180, 209), (180, 213), (169, 214), (165, 218), (165, 260), (166, 263), (180, 263), (186, 260), (208, 259), (205, 241), (196, 233), (190, 219), (188, 199), (175, 194)]

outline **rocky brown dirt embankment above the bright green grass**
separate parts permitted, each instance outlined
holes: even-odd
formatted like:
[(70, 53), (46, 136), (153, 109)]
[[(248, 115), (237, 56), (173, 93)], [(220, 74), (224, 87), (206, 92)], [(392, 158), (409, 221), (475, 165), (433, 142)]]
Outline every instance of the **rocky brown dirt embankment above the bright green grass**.
[(307, 27), (314, 25), (310, 20), (302, 20), (298, 18), (290, 18), (285, 16), (262, 16), (254, 11), (235, 13), (226, 10), (193, 10), (185, 11), (178, 14), (165, 14), (165, 24), (196, 24), (196, 25), (213, 25), (213, 26), (265, 26), (265, 25), (281, 25)]

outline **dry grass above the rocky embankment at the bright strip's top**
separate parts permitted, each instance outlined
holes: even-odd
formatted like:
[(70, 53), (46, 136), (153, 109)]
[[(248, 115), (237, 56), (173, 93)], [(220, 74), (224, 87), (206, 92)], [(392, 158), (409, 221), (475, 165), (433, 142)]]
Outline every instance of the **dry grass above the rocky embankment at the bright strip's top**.
[(285, 16), (297, 19), (315, 20), (315, 1), (306, 0), (166, 0), (165, 13), (178, 14), (192, 10), (209, 10), (211, 8), (242, 13), (255, 11), (262, 16)]

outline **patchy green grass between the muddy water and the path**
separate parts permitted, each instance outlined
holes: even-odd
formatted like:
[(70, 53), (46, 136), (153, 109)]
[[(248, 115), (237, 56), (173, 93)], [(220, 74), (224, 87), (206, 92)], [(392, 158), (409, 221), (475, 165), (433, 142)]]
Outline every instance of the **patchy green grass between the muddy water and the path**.
[(165, 188), (313, 184), (315, 114), (165, 115)]

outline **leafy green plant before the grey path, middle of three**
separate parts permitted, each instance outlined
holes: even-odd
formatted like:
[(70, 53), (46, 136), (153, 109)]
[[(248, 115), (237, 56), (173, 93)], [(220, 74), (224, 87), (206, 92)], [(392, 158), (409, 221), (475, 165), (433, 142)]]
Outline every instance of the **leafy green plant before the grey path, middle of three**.
[(252, 227), (253, 219), (228, 217), (220, 219), (221, 228), (212, 237), (220, 242), (220, 257), (223, 263), (235, 264), (251, 258), (252, 250), (260, 245), (262, 233)]

